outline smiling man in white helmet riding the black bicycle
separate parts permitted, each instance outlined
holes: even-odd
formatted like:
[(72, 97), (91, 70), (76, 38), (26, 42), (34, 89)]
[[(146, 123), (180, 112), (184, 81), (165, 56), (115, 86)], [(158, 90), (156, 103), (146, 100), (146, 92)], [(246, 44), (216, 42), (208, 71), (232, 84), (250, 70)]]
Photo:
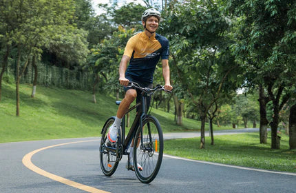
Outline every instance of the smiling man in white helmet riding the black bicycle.
[[(140, 93), (134, 88), (127, 87), (129, 81), (134, 81), (144, 88), (152, 88), (154, 71), (160, 57), (162, 58), (162, 75), (165, 79), (165, 89), (172, 90), (173, 88), (169, 80), (169, 41), (165, 37), (156, 34), (159, 22), (160, 12), (154, 8), (145, 10), (142, 14), (142, 26), (145, 30), (131, 37), (125, 46), (125, 52), (119, 66), (119, 81), (120, 85), (125, 86), (125, 98), (121, 101), (115, 121), (107, 134), (107, 143), (116, 142), (123, 115), (127, 112), (134, 99), (136, 99), (137, 103), (140, 101)], [(149, 103), (150, 99), (147, 100), (148, 108)], [(131, 144), (130, 152), (132, 151), (133, 144)], [(134, 171), (132, 154), (129, 154), (129, 160), (131, 160), (131, 163), (127, 163), (127, 169)], [(141, 168), (140, 165), (138, 167)]]

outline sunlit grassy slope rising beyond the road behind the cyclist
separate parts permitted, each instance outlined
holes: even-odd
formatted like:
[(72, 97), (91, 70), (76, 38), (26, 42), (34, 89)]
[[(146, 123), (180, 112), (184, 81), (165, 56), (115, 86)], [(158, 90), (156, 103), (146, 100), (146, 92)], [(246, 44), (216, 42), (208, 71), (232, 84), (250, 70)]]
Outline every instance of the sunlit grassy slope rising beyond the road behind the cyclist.
[[(100, 136), (109, 116), (117, 111), (113, 96), (98, 93), (92, 103), (91, 92), (38, 86), (32, 99), (30, 85), (20, 87), (20, 116), (15, 105), (15, 86), (3, 83), (0, 102), (0, 143), (43, 139)], [(153, 109), (164, 132), (197, 131), (200, 122), (184, 119), (184, 125), (174, 123), (173, 114)], [(131, 121), (134, 116), (131, 116)], [(218, 129), (218, 128), (215, 128)], [(227, 129), (227, 128), (219, 128)]]

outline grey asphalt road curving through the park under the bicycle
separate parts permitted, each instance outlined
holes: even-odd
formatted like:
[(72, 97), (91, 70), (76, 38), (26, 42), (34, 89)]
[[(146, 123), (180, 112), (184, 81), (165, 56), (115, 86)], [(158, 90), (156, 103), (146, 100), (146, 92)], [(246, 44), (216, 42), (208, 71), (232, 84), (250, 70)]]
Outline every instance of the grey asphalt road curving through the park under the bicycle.
[[(242, 131), (215, 132), (215, 135)], [(167, 134), (165, 139), (198, 135), (195, 132)], [(85, 192), (36, 174), (22, 163), (29, 152), (62, 143), (35, 152), (30, 160), (42, 171), (54, 174), (54, 178), (63, 177), (63, 183), (92, 187), (94, 192), (296, 192), (295, 174), (244, 170), (170, 156), (164, 157), (158, 176), (148, 185), (140, 183), (134, 172), (125, 169), (125, 157), (115, 174), (107, 177), (99, 165), (98, 138), (0, 144), (0, 192)]]

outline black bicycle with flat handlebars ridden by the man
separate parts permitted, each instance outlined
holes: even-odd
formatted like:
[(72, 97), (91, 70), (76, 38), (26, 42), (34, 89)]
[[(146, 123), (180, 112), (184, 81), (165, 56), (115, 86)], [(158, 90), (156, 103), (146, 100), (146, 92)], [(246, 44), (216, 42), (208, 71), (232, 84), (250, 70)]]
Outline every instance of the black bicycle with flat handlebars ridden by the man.
[[(147, 96), (151, 96), (158, 90), (165, 90), (164, 86), (157, 85), (156, 88), (141, 88), (138, 83), (129, 82), (129, 87), (136, 88), (141, 91), (141, 101), (129, 108), (127, 113), (139, 107), (136, 117), (131, 128), (125, 137), (125, 115), (118, 132), (117, 142), (113, 145), (106, 145), (107, 133), (109, 127), (115, 120), (115, 116), (110, 117), (102, 128), (101, 145), (100, 145), (100, 164), (103, 173), (106, 176), (112, 176), (117, 169), (119, 161), (123, 155), (127, 155), (128, 162), (129, 153), (133, 153), (134, 170), (137, 178), (142, 183), (150, 183), (153, 181), (160, 170), (163, 154), (163, 135), (160, 123), (156, 117), (147, 114)], [(119, 105), (121, 101), (116, 101)], [(133, 152), (128, 152), (129, 146), (134, 141)], [(138, 163), (142, 168), (136, 167)], [(142, 170), (141, 170), (142, 169)], [(127, 169), (129, 170), (129, 169)]]

